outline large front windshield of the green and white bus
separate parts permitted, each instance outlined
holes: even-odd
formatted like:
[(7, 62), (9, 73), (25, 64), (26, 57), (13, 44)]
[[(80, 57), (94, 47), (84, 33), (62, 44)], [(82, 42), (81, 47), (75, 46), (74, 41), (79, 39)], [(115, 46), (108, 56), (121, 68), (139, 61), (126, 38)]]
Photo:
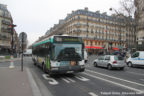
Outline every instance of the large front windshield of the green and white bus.
[(54, 44), (55, 59), (60, 61), (81, 60), (82, 44)]

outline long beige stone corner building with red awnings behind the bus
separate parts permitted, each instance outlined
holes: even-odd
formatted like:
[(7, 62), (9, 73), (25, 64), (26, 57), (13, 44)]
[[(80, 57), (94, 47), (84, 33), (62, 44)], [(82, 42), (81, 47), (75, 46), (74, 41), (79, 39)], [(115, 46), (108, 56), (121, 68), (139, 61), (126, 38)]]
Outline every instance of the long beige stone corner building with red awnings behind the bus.
[(44, 37), (56, 34), (80, 36), (89, 52), (98, 53), (104, 50), (105, 52), (120, 50), (128, 47), (128, 44), (134, 46), (135, 30), (134, 27), (130, 29), (132, 30), (126, 29), (121, 16), (108, 16), (106, 12), (91, 12), (85, 8), (67, 14), (66, 18), (48, 30)]

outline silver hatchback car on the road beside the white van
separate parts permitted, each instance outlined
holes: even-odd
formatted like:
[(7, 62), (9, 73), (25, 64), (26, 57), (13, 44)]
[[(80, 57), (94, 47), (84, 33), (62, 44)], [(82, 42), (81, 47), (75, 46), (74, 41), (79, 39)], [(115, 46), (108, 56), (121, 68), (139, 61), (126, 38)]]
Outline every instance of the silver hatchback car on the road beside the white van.
[(99, 56), (97, 59), (93, 61), (93, 64), (95, 67), (106, 67), (109, 70), (113, 68), (119, 68), (123, 70), (126, 66), (124, 58), (116, 55)]

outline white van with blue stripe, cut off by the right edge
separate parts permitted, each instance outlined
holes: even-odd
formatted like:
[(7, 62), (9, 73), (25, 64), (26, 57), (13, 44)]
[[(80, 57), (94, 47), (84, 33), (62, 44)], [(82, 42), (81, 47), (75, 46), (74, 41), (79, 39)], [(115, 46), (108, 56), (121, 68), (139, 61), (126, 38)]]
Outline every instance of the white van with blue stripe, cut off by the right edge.
[(136, 65), (144, 66), (144, 51), (136, 51), (126, 62), (129, 67), (134, 67)]

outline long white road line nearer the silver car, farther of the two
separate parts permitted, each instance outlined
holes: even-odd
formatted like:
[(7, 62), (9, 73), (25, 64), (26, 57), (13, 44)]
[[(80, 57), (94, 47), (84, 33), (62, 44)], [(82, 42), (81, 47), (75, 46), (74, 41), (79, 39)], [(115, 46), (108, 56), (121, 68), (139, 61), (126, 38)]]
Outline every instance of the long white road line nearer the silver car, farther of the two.
[(144, 86), (143, 84), (140, 84), (140, 83), (137, 83), (137, 82), (133, 82), (133, 81), (129, 81), (129, 80), (113, 77), (113, 76), (110, 76), (110, 75), (102, 74), (102, 73), (91, 71), (91, 70), (88, 70), (88, 69), (86, 69), (86, 71), (89, 71), (89, 72), (92, 72), (92, 73), (96, 73), (96, 74), (99, 74), (99, 75), (102, 75), (102, 76), (106, 76), (106, 77), (109, 77), (109, 78), (125, 81), (125, 82), (128, 82), (128, 83), (136, 84), (136, 85), (139, 85), (139, 86)]

